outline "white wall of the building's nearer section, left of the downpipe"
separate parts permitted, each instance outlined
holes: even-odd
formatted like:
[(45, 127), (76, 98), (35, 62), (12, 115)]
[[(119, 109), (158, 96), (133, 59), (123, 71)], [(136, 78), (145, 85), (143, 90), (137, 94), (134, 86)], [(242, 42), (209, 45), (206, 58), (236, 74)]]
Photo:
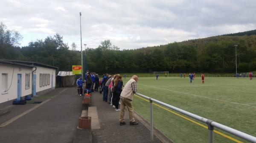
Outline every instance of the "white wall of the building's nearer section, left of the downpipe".
[[(8, 74), (8, 88), (10, 87), (10, 89), (6, 93), (2, 93), (2, 73)], [(25, 83), (26, 73), (30, 73), (28, 89), (26, 89)], [(20, 96), (23, 97), (32, 94), (32, 68), (0, 63), (0, 103), (17, 98), (17, 74), (21, 74)]]

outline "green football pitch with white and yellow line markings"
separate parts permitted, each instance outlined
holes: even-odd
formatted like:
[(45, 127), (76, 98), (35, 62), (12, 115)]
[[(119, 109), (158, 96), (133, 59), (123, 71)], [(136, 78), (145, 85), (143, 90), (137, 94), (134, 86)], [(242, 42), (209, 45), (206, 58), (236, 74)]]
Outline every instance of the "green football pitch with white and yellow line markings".
[[(201, 77), (196, 77), (192, 84), (189, 78), (180, 77), (139, 78), (137, 82), (138, 93), (253, 136), (256, 136), (255, 86), (256, 79), (228, 77), (206, 77), (205, 84), (201, 83)], [(135, 96), (133, 104), (135, 111), (149, 121), (149, 103)], [(175, 143), (207, 143), (207, 129), (160, 107), (153, 106), (153, 122)], [(246, 143), (220, 129), (215, 130), (228, 135), (215, 133), (215, 143)]]

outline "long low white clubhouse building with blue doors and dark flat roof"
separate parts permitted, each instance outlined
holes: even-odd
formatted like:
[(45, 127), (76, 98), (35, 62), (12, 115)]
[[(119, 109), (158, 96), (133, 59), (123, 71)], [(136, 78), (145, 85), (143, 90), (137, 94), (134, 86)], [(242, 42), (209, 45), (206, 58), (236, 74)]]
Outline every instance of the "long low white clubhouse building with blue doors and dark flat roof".
[(0, 103), (55, 88), (57, 67), (0, 59)]

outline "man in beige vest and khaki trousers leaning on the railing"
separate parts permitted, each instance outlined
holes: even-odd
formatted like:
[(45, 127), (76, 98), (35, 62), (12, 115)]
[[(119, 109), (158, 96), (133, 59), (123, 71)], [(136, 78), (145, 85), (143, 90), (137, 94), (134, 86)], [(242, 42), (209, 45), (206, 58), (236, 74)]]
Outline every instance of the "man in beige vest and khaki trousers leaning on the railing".
[(132, 106), (133, 95), (137, 92), (137, 81), (138, 76), (132, 76), (131, 79), (125, 84), (125, 87), (120, 95), (122, 101), (120, 107), (120, 126), (125, 125), (125, 107), (127, 107), (129, 112), (130, 125), (138, 125), (138, 122), (134, 120), (134, 108)]

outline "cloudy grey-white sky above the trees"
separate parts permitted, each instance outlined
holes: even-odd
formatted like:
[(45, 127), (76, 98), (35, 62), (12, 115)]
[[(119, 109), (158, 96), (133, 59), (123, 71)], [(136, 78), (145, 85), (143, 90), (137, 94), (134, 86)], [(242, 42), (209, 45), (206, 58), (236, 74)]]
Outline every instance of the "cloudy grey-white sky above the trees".
[(21, 46), (58, 33), (80, 47), (80, 11), (90, 48), (105, 39), (134, 49), (256, 29), (256, 0), (1, 0), (0, 21), (20, 32)]

